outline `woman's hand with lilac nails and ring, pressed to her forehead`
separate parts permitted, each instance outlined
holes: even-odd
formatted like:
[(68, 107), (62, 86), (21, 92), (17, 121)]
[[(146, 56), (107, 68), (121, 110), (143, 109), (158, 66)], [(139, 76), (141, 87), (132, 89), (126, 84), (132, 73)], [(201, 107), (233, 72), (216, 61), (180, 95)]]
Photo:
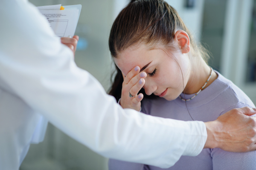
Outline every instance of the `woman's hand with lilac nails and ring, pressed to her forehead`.
[[(145, 72), (140, 73), (140, 67), (136, 66), (133, 68), (126, 77), (123, 75), (124, 82), (122, 84), (122, 94), (120, 105), (125, 108), (135, 109), (140, 111), (140, 101), (143, 99), (143, 94), (138, 92), (145, 84)], [(129, 92), (134, 97), (129, 97)]]

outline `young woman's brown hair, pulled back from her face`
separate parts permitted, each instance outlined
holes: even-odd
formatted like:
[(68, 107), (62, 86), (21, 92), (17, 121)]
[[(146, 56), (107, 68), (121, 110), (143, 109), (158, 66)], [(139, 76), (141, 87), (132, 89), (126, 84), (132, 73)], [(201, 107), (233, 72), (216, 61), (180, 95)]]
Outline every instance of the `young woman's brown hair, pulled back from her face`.
[[(209, 55), (206, 49), (195, 43), (177, 11), (164, 0), (131, 0), (116, 17), (111, 28), (108, 42), (111, 56), (117, 58), (118, 53), (137, 43), (175, 49), (172, 44), (175, 30), (185, 31), (190, 38), (192, 55), (201, 56), (207, 62)], [(116, 70), (109, 94), (118, 100), (121, 98), (123, 78), (117, 66)], [(144, 89), (141, 92), (144, 97), (149, 97), (145, 95)]]

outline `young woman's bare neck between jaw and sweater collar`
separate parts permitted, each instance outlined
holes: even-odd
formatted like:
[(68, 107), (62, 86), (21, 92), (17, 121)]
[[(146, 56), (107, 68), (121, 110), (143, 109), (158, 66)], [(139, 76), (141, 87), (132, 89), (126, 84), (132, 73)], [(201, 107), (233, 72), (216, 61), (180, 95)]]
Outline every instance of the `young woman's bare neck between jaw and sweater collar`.
[[(189, 80), (186, 84), (184, 92), (186, 94), (194, 94), (198, 92), (202, 86), (204, 86), (205, 82), (209, 78), (211, 73), (211, 68), (205, 63), (203, 58), (201, 57), (194, 57), (194, 60), (191, 61), (191, 69), (189, 74)], [(207, 88), (216, 78), (218, 75), (213, 72), (212, 77), (210, 78), (207, 85), (204, 89)]]

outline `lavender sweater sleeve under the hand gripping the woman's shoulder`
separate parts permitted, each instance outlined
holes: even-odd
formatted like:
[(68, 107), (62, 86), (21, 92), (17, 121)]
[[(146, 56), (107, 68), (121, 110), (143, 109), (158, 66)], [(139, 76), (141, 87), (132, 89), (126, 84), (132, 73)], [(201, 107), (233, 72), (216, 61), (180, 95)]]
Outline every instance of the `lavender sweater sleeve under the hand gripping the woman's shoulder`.
[[(247, 104), (236, 104), (224, 112), (242, 107), (254, 107)], [(221, 150), (219, 148), (211, 149), (213, 170), (256, 170), (256, 151), (247, 153), (233, 153)]]

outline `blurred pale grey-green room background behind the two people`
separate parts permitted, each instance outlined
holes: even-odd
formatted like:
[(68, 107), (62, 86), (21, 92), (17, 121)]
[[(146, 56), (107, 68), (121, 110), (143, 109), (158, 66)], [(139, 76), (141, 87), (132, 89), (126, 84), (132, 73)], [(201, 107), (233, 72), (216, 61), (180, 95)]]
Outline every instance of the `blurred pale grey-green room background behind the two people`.
[[(108, 36), (129, 0), (29, 0), (35, 6), (81, 4), (75, 61), (105, 90), (113, 71)], [(256, 104), (256, 0), (166, 0), (196, 40), (211, 53), (209, 65), (239, 86)], [(108, 159), (48, 124), (45, 139), (31, 145), (20, 170), (108, 170)]]

